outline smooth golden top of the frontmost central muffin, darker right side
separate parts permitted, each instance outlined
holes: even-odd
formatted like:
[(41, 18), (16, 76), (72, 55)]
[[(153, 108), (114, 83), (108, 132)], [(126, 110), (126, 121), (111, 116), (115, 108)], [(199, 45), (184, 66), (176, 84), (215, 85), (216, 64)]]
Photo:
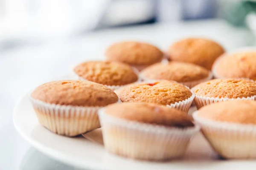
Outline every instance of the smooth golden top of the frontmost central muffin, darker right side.
[(185, 112), (162, 105), (128, 102), (109, 105), (105, 113), (120, 119), (168, 127), (192, 127), (194, 124)]

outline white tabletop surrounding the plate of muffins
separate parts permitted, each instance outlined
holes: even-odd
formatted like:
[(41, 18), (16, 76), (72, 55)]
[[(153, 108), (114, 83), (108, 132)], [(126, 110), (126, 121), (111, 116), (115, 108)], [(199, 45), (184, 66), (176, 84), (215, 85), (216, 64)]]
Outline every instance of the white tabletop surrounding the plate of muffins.
[(13, 126), (12, 110), (26, 91), (70, 72), (83, 60), (104, 59), (104, 49), (116, 40), (144, 40), (165, 50), (171, 42), (187, 36), (213, 38), (227, 50), (250, 46), (254, 40), (248, 30), (233, 28), (221, 20), (209, 20), (98, 31), (79, 38), (0, 52), (0, 169), (28, 170), (36, 166), (40, 170), (58, 169), (59, 163), (47, 161), (47, 156), (29, 149), (30, 144)]

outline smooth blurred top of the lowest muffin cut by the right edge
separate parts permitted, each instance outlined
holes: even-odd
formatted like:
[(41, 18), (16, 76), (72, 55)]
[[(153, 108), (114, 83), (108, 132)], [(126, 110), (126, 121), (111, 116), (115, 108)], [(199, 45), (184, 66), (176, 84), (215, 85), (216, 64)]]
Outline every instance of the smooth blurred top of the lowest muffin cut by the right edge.
[(198, 110), (198, 117), (243, 124), (256, 124), (256, 102), (232, 100), (207, 105)]

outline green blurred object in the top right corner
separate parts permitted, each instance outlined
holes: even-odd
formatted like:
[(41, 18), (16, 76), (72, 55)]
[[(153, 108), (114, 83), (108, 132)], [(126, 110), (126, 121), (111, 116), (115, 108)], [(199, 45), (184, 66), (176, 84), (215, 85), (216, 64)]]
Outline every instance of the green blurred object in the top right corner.
[(235, 26), (246, 26), (245, 18), (251, 12), (256, 13), (256, 0), (242, 0), (230, 7), (225, 19)]

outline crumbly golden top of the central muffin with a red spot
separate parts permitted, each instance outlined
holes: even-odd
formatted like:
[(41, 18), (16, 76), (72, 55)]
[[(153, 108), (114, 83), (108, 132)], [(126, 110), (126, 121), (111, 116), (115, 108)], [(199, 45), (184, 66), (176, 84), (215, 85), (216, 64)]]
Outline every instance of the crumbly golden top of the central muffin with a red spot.
[(116, 91), (122, 102), (148, 102), (170, 105), (192, 96), (191, 91), (177, 82), (159, 80), (142, 82), (119, 88)]

